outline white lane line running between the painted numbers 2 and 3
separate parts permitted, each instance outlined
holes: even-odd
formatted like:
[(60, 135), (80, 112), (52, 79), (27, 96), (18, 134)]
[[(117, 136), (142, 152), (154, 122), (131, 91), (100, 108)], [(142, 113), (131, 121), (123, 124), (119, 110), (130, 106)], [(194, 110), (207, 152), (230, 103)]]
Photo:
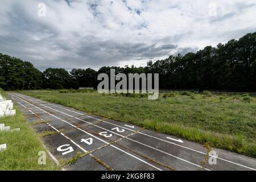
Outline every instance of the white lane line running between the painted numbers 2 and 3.
[[(30, 99), (28, 99), (28, 100), (29, 100), (29, 101), (32, 101), (32, 100), (30, 100)], [(32, 101), (32, 102), (35, 102), (35, 101)], [(43, 104), (40, 104), (40, 105), (43, 105)], [(45, 106), (45, 105), (43, 105), (43, 106)], [(48, 107), (48, 106), (45, 106), (45, 107)], [(48, 108), (49, 108), (49, 109), (52, 109), (51, 107), (48, 107)], [(56, 110), (56, 109), (52, 109), (52, 110), (59, 111), (59, 110)], [(60, 112), (60, 113), (63, 113), (62, 111), (59, 111), (59, 112)], [(66, 113), (63, 113), (63, 114), (66, 114)], [(66, 114), (66, 115), (69, 115), (69, 114)], [(113, 134), (119, 135), (120, 137), (127, 138), (126, 136), (123, 136), (123, 135), (121, 135), (121, 134), (115, 133), (115, 132), (110, 131), (110, 130), (108, 130), (108, 129), (105, 129), (105, 128), (103, 128), (103, 127), (100, 127), (100, 126), (94, 125), (94, 124), (92, 124), (92, 123), (90, 123), (90, 122), (87, 122), (87, 121), (85, 121), (85, 120), (83, 120), (83, 119), (76, 118), (76, 117), (75, 117), (75, 119), (78, 119), (78, 120), (80, 120), (80, 121), (83, 121), (83, 122), (89, 123), (90, 125), (96, 126), (96, 127), (100, 128), (100, 129), (103, 129), (103, 130), (106, 130), (106, 131), (109, 131), (110, 133), (113, 133)], [(142, 144), (143, 146), (150, 147), (150, 148), (152, 148), (152, 149), (154, 149), (154, 150), (156, 150), (156, 151), (163, 152), (164, 154), (170, 155), (170, 156), (172, 156), (172, 157), (174, 157), (174, 158), (176, 158), (176, 159), (180, 159), (180, 160), (182, 160), (183, 162), (187, 162), (187, 163), (189, 163), (189, 164), (192, 164), (193, 166), (196, 166), (196, 167), (199, 167), (199, 168), (203, 168), (203, 167), (201, 167), (201, 166), (199, 166), (199, 165), (197, 165), (197, 164), (195, 164), (195, 163), (189, 162), (189, 161), (187, 161), (187, 160), (185, 160), (185, 159), (181, 159), (181, 158), (179, 158), (179, 157), (177, 157), (177, 156), (175, 156), (175, 155), (172, 155), (172, 154), (169, 154), (169, 153), (167, 153), (167, 152), (161, 151), (161, 150), (159, 150), (158, 148), (154, 148), (154, 147), (148, 146), (147, 144), (144, 144), (144, 143), (138, 142), (137, 140), (133, 140), (133, 139), (130, 139), (130, 138), (127, 138), (127, 139), (132, 140), (133, 142), (136, 142), (136, 143)], [(207, 168), (204, 168), (204, 169), (206, 169), (206, 170), (210, 171), (210, 170), (209, 170), (209, 169), (207, 169)]]

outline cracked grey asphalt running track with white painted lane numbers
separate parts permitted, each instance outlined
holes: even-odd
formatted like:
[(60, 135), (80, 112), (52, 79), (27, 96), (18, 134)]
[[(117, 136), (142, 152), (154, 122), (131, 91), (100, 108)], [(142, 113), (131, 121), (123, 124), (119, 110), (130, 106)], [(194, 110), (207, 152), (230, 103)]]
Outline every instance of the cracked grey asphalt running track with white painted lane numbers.
[[(36, 132), (56, 131), (44, 137), (48, 154), (58, 164), (82, 152), (67, 170), (254, 170), (256, 159), (211, 148), (218, 155), (209, 164), (201, 144), (155, 133), (142, 127), (88, 115), (20, 93), (8, 93)], [(211, 159), (213, 159), (211, 158)]]

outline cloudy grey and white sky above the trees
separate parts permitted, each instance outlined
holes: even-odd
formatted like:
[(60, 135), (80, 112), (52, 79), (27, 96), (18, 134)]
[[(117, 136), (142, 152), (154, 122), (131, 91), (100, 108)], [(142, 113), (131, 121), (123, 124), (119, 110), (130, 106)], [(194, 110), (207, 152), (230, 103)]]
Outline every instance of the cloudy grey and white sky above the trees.
[(144, 66), (255, 32), (255, 12), (256, 0), (1, 0), (0, 52), (41, 71)]

